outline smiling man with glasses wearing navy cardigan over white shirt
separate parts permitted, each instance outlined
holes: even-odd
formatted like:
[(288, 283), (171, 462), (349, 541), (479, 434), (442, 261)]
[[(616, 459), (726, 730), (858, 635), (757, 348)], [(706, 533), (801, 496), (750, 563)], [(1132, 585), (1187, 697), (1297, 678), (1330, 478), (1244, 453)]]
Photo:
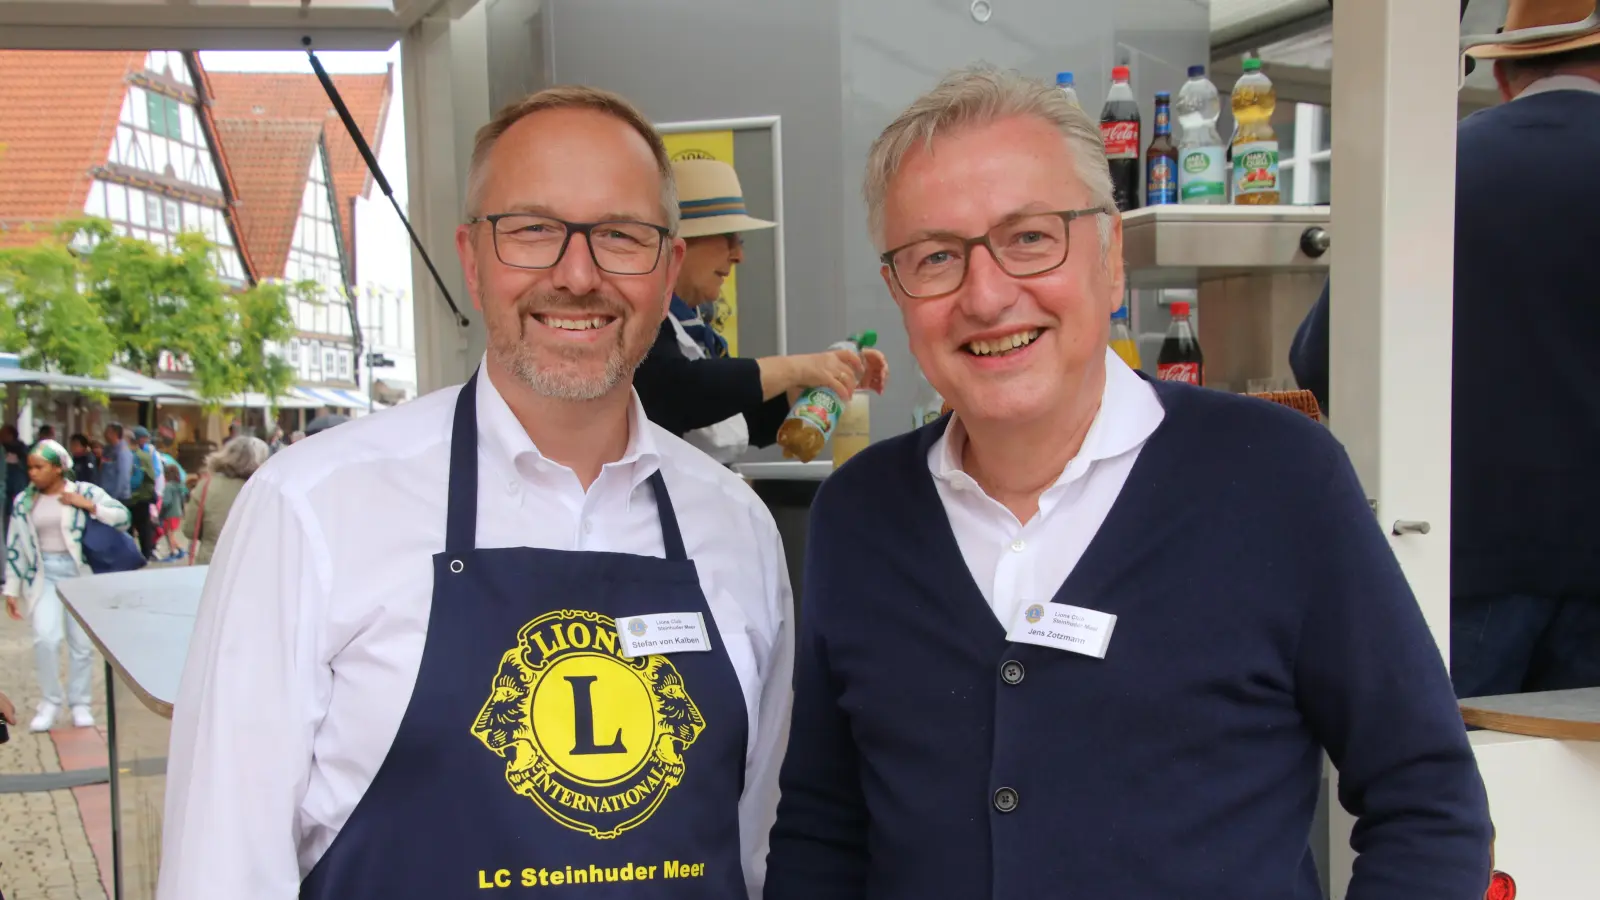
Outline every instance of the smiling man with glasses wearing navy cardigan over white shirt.
[(1339, 444), (1106, 349), (1096, 125), (958, 72), (866, 195), (954, 415), (818, 492), (766, 900), (1310, 900), (1323, 751), (1350, 900), (1482, 898), (1483, 783)]

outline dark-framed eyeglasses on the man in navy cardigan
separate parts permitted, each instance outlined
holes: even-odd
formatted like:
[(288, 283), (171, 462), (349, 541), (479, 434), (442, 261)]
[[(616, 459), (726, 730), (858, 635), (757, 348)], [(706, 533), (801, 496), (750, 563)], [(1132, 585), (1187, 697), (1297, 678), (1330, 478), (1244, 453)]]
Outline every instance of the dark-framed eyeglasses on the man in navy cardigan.
[(1110, 215), (1110, 210), (1061, 210), (1006, 219), (978, 237), (934, 235), (896, 247), (882, 256), (906, 296), (931, 299), (955, 293), (966, 283), (974, 247), (987, 247), (1000, 269), (1027, 279), (1059, 269), (1072, 247), (1072, 221)]

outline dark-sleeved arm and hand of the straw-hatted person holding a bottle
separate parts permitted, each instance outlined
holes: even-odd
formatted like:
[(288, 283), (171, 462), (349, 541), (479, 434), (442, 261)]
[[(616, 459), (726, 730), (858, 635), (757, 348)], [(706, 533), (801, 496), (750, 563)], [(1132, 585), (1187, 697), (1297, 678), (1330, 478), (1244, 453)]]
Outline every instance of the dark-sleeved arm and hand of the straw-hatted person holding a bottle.
[[(736, 415), (746, 415), (749, 421), (749, 413), (763, 412), (768, 400), (774, 408), (782, 400), (787, 413), (786, 394), (805, 384), (826, 384), (848, 397), (854, 380), (843, 375), (854, 372), (859, 376), (862, 370), (861, 360), (848, 351), (762, 359), (688, 359), (678, 348), (672, 323), (662, 320), (656, 343), (634, 373), (634, 389), (638, 391), (650, 421), (682, 436)], [(776, 434), (776, 426), (773, 432)]]

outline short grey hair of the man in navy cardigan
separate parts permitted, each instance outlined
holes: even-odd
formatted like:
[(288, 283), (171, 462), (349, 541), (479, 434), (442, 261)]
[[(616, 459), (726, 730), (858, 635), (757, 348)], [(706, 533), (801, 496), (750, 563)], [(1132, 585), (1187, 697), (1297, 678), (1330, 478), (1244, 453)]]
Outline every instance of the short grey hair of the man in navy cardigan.
[(1054, 85), (982, 62), (946, 75), (938, 86), (912, 101), (906, 112), (872, 143), (861, 192), (867, 202), (867, 227), (877, 248), (886, 250), (883, 202), (890, 181), (912, 147), (917, 144), (933, 147), (933, 139), (944, 131), (989, 125), (1013, 115), (1038, 117), (1054, 125), (1067, 139), (1078, 181), (1090, 191), (1090, 205), (1106, 210), (1104, 215), (1094, 216), (1104, 259), (1110, 248), (1117, 199), (1112, 194), (1110, 167), (1106, 165), (1106, 144), (1101, 141), (1099, 125)]

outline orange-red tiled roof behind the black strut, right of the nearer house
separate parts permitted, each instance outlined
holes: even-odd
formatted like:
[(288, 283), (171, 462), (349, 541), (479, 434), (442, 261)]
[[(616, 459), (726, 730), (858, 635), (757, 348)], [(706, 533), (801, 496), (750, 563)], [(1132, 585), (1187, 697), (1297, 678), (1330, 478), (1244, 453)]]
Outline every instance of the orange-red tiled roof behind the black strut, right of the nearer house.
[[(267, 74), (267, 72), (208, 72), (211, 98), (219, 119), (258, 119), (278, 122), (318, 122), (328, 146), (328, 167), (333, 170), (333, 189), (339, 199), (339, 229), (344, 239), (346, 258), (355, 264), (355, 199), (368, 192), (370, 175), (355, 141), (333, 110), (333, 102), (315, 75)], [(394, 74), (382, 75), (333, 75), (333, 85), (344, 98), (355, 125), (366, 144), (378, 155), (384, 120), (389, 117), (389, 101), (394, 96)], [(237, 165), (237, 160), (235, 160)], [(301, 173), (304, 175), (304, 173)], [(294, 202), (304, 194), (304, 184), (296, 189)], [(299, 207), (296, 205), (296, 210)], [(293, 218), (290, 219), (293, 232)], [(262, 274), (272, 272), (262, 263)], [(350, 272), (352, 279), (355, 272)]]

